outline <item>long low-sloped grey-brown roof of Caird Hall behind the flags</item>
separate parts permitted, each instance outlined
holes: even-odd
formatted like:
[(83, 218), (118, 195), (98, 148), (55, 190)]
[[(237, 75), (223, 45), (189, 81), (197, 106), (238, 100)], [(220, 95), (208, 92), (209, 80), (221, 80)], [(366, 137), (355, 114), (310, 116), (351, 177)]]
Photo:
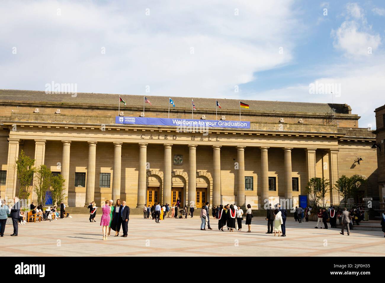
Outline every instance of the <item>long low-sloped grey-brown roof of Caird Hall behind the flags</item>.
[[(169, 97), (146, 95), (152, 105), (146, 104), (146, 108), (168, 108)], [(126, 107), (143, 107), (143, 95), (121, 95), (127, 103)], [(175, 109), (191, 109), (191, 97), (172, 97)], [(301, 113), (328, 113), (331, 108), (336, 109), (337, 114), (348, 114), (350, 107), (346, 104), (308, 103), (308, 102), (284, 102), (264, 100), (241, 100), (249, 104), (250, 112), (301, 112)], [(71, 94), (46, 94), (36, 90), (0, 90), (0, 102), (30, 102), (38, 104), (69, 104), (69, 105), (118, 105), (119, 94), (77, 93)], [(218, 99), (223, 110), (239, 110), (238, 99)], [(215, 98), (194, 98), (194, 104), (199, 109), (215, 109)], [(172, 106), (171, 106), (172, 107)], [(124, 109), (124, 105), (121, 104)]]

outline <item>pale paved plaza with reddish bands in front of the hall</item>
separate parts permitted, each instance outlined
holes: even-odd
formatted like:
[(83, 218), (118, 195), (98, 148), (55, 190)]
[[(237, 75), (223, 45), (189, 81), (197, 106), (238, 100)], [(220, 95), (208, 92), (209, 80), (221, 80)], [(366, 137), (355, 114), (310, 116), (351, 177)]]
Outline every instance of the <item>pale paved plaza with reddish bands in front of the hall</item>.
[[(212, 231), (201, 231), (199, 217), (166, 218), (160, 224), (141, 216), (130, 216), (128, 238), (102, 240), (100, 215), (90, 223), (88, 215), (19, 225), (19, 236), (11, 237), (7, 225), (0, 238), (0, 256), (385, 256), (381, 231), (314, 229), (315, 222), (286, 221), (286, 237), (265, 234), (266, 220), (254, 217), (252, 233), (218, 230), (211, 219)], [(207, 228), (207, 227), (206, 227)], [(111, 231), (114, 235), (114, 231)]]

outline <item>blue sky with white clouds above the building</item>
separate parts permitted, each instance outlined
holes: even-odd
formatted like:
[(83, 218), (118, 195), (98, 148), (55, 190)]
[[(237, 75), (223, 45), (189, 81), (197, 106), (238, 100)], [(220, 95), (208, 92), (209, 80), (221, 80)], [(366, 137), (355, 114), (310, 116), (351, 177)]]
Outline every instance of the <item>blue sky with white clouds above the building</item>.
[(384, 37), (380, 0), (3, 0), (0, 89), (346, 103), (375, 129)]

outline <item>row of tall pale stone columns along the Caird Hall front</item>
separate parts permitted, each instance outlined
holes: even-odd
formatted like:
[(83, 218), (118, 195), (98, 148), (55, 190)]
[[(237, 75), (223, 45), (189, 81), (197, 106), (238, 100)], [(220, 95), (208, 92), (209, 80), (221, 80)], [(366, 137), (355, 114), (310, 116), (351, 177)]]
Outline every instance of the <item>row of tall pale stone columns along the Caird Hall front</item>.
[[(7, 197), (13, 198), (16, 195), (16, 181), (17, 170), (15, 170), (15, 160), (18, 157), (19, 140), (8, 139), (8, 171), (7, 171)], [(45, 156), (45, 140), (35, 141), (35, 166), (39, 167), (44, 164)], [(68, 204), (68, 180), (69, 180), (69, 165), (70, 165), (70, 144), (71, 141), (62, 141), (63, 154), (61, 164), (61, 174), (65, 180), (64, 182), (64, 202)], [(95, 193), (95, 162), (96, 162), (96, 141), (89, 141), (88, 152), (88, 171), (87, 184), (85, 192), (85, 206), (87, 206), (94, 198)], [(189, 144), (189, 202), (195, 205), (193, 201), (196, 197), (196, 144)], [(245, 205), (245, 184), (244, 184), (244, 146), (237, 146), (238, 157), (238, 191), (237, 204)], [(171, 203), (171, 144), (164, 144), (164, 202)], [(269, 197), (269, 168), (268, 168), (268, 149), (269, 147), (261, 147), (261, 199)], [(285, 198), (292, 198), (292, 178), (291, 178), (291, 150), (292, 148), (284, 148), (284, 166), (285, 166), (285, 183), (286, 191)], [(306, 151), (306, 167), (308, 169), (308, 179), (316, 176), (316, 149), (307, 148)], [(114, 142), (114, 173), (112, 177), (112, 199), (116, 200), (120, 197), (121, 188), (121, 155), (122, 142)], [(338, 179), (338, 149), (330, 150), (329, 154), (330, 164), (330, 184), (331, 184), (331, 201), (337, 203), (339, 201), (339, 194), (333, 184)], [(147, 143), (139, 144), (139, 178), (138, 178), (138, 198), (137, 207), (142, 207), (146, 203), (147, 194)], [(219, 204), (221, 202), (221, 146), (213, 146), (213, 203)], [(35, 181), (34, 181), (35, 182)], [(8, 188), (12, 188), (8, 189)], [(34, 195), (33, 195), (34, 196)]]

